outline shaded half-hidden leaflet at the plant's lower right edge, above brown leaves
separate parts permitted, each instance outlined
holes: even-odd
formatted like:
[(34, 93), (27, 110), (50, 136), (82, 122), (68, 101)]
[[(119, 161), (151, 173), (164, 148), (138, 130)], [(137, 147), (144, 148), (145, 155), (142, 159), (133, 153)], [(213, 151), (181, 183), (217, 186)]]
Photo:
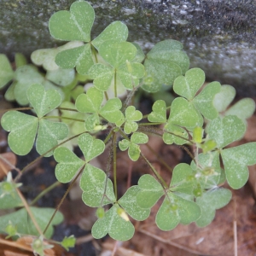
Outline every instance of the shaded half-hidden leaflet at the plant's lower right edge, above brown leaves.
[(196, 204), (201, 207), (201, 217), (196, 220), (199, 227), (210, 224), (215, 217), (215, 212), (226, 206), (232, 198), (229, 189), (213, 189), (196, 198)]

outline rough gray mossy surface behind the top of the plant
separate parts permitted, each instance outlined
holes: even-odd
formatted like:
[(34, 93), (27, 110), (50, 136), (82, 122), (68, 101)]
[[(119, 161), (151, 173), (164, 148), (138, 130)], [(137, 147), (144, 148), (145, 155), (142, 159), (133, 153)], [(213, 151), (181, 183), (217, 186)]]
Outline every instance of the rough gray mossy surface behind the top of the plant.
[[(1, 0), (0, 52), (29, 56), (64, 44), (51, 38), (50, 15), (73, 0)], [(240, 96), (256, 96), (256, 0), (92, 0), (96, 37), (113, 20), (129, 28), (129, 41), (145, 51), (161, 40), (181, 41), (191, 67), (207, 79), (232, 84)]]

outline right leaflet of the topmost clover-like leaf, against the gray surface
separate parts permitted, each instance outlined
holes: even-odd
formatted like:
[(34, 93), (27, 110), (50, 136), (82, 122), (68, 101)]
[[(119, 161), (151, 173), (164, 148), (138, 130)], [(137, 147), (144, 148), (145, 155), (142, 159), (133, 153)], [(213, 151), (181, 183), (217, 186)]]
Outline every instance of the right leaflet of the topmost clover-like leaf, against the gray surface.
[(92, 44), (99, 49), (102, 44), (109, 44), (108, 41), (123, 42), (128, 37), (128, 28), (121, 21), (113, 21), (109, 24), (100, 35), (92, 40)]

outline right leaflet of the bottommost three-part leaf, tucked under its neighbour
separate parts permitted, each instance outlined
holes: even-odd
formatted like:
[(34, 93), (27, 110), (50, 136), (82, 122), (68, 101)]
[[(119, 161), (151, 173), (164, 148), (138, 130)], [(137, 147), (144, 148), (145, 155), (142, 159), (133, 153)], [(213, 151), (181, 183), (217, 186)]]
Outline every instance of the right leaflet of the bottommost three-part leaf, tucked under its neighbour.
[(150, 209), (143, 209), (137, 205), (138, 186), (132, 186), (127, 189), (125, 195), (119, 199), (119, 205), (125, 209), (131, 218), (142, 221), (148, 218)]

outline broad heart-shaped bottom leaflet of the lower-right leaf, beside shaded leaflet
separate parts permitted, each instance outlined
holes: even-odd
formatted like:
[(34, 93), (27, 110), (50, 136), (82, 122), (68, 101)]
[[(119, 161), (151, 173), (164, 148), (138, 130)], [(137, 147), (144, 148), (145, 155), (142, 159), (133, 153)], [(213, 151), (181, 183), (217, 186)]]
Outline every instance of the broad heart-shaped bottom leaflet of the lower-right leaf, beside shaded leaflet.
[[(173, 193), (168, 193), (155, 217), (160, 230), (173, 230), (178, 223), (190, 224), (201, 216), (201, 209), (194, 201), (188, 201)], [(175, 206), (175, 210), (172, 210)]]

